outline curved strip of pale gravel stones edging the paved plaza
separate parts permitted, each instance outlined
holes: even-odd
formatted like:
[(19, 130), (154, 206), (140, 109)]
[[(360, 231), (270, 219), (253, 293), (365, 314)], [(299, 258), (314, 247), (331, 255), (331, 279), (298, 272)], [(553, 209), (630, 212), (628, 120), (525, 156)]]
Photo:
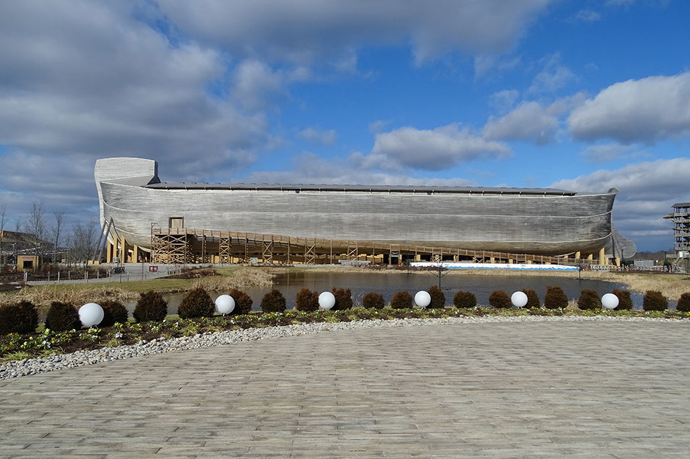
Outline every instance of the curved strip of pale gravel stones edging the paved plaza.
[(282, 338), (284, 336), (311, 335), (324, 331), (370, 329), (391, 326), (423, 326), (443, 324), (477, 324), (496, 322), (673, 322), (690, 323), (690, 319), (662, 319), (662, 318), (626, 318), (598, 315), (595, 317), (578, 316), (539, 316), (522, 315), (517, 317), (484, 316), (480, 318), (442, 318), (442, 319), (393, 319), (393, 320), (359, 320), (357, 322), (319, 322), (313, 324), (270, 326), (261, 329), (246, 329), (221, 331), (217, 333), (203, 333), (200, 335), (172, 338), (158, 338), (149, 342), (140, 341), (128, 346), (107, 347), (92, 351), (77, 351), (69, 354), (51, 355), (47, 358), (34, 358), (0, 362), (0, 379), (17, 378), (19, 376), (35, 375), (64, 368), (77, 368), (84, 365), (110, 362), (125, 358), (139, 357), (186, 349), (220, 346), (237, 342), (249, 342)]

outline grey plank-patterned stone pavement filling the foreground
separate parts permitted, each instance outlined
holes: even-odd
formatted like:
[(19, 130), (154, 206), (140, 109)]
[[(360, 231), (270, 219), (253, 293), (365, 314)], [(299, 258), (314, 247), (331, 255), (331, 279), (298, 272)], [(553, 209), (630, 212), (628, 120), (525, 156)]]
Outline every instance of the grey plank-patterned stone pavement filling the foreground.
[(362, 329), (0, 382), (1, 458), (688, 458), (690, 324)]

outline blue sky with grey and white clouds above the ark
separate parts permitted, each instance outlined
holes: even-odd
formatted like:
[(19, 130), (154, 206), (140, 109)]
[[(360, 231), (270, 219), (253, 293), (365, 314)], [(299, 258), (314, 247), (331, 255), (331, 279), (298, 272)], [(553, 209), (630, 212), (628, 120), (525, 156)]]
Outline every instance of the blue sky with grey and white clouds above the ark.
[[(97, 158), (164, 181), (620, 189), (690, 201), (684, 0), (8, 0), (0, 204), (96, 216)], [(13, 223), (12, 223), (13, 225)]]

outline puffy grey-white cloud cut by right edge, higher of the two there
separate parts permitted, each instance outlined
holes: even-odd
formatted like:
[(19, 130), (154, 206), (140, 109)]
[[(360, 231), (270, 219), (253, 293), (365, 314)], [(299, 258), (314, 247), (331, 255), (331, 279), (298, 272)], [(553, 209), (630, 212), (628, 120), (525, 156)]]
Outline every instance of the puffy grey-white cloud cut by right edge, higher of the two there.
[(613, 84), (573, 110), (568, 126), (578, 139), (623, 144), (690, 135), (690, 72)]

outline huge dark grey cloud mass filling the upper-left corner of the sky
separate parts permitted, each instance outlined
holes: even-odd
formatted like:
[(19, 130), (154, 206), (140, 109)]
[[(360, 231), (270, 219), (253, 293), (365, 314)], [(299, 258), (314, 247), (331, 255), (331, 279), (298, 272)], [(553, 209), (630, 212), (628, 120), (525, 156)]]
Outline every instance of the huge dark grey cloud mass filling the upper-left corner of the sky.
[(129, 8), (1, 4), (0, 144), (43, 155), (46, 171), (55, 154), (165, 157), (174, 167), (206, 150), (216, 164), (245, 162), (265, 140), (266, 119), (208, 90), (224, 82), (224, 55), (171, 46)]

